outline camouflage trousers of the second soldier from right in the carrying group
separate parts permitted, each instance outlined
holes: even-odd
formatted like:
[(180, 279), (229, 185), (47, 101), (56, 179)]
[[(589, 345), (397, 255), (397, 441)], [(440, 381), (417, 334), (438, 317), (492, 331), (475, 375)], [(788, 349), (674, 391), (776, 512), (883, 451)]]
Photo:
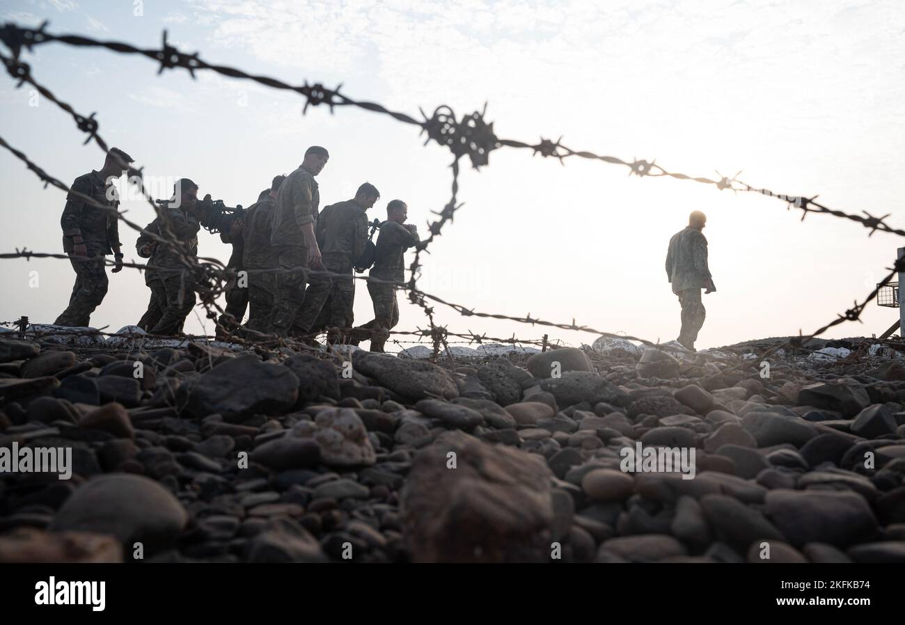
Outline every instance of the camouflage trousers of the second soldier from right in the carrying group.
[(329, 258), (324, 259), (324, 267), (334, 273), (349, 275), (311, 279), (293, 328), (299, 334), (314, 331), (319, 321), (325, 323), (326, 327), (352, 327), (355, 321), (355, 279), (351, 275), (352, 268), (342, 262), (332, 262)]

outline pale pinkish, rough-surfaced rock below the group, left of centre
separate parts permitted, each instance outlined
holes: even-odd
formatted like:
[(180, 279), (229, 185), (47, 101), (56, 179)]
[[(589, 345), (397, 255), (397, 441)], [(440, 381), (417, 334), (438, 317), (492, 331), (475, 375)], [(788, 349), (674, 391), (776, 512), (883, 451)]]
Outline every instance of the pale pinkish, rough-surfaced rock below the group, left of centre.
[(351, 408), (322, 410), (314, 421), (299, 421), (292, 426), (291, 436), (314, 440), (324, 464), (356, 467), (376, 461), (365, 424)]

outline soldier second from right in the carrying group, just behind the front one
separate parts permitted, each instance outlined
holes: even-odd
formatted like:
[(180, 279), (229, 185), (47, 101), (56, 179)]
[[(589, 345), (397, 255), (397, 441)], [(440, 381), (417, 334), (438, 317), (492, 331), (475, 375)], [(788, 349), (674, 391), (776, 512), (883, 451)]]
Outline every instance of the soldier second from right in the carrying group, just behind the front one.
[[(351, 327), (354, 316), (352, 303), (355, 279), (354, 260), (365, 251), (367, 242), (367, 209), (374, 206), (380, 192), (365, 183), (358, 187), (355, 197), (338, 204), (330, 204), (318, 217), (318, 242), (326, 270), (342, 276), (322, 276), (311, 280), (305, 291), (305, 301), (296, 317), (295, 330), (301, 334), (311, 331), (325, 302), (330, 301), (327, 324), (332, 327)], [(348, 277), (347, 277), (348, 276)], [(334, 337), (335, 338), (335, 337)]]

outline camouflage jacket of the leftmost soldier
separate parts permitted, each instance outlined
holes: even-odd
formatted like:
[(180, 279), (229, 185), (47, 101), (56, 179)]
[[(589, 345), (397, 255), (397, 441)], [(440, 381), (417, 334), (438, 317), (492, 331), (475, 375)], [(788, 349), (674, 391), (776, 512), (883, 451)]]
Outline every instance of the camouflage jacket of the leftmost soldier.
[[(107, 199), (107, 190), (114, 198)], [(74, 192), (74, 193), (73, 193)], [(72, 251), (75, 243), (72, 238), (81, 236), (90, 254), (111, 254), (113, 248), (119, 247), (119, 220), (117, 216), (85, 201), (78, 194), (88, 195), (98, 203), (112, 208), (119, 207), (116, 188), (107, 185), (100, 173), (92, 170), (90, 174), (80, 175), (72, 183), (71, 192), (66, 195), (66, 206), (62, 209), (60, 225), (62, 227), (63, 251)]]

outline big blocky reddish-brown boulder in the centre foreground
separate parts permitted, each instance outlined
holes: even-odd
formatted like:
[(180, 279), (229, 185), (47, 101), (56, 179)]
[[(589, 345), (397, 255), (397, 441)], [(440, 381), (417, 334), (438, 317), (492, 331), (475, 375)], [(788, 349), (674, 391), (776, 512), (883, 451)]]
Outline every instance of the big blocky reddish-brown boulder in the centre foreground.
[(403, 490), (412, 560), (548, 562), (550, 478), (536, 454), (444, 432), (414, 457)]

